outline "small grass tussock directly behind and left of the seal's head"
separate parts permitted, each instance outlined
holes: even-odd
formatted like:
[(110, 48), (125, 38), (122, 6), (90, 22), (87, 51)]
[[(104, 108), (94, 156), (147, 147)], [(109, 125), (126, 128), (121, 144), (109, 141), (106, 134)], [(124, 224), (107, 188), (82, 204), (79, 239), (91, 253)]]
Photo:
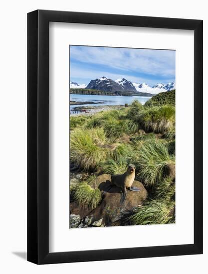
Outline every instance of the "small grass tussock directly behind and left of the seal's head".
[(101, 163), (101, 168), (104, 173), (115, 175), (122, 174), (127, 170), (128, 161), (125, 158), (120, 158), (115, 161), (113, 159), (107, 159)]

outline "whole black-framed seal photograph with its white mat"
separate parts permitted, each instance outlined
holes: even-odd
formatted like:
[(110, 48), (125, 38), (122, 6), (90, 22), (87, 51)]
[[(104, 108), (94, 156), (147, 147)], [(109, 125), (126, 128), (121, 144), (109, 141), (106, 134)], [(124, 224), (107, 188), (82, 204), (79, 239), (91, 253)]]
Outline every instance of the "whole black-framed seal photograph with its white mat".
[(203, 253), (203, 21), (27, 14), (27, 260)]

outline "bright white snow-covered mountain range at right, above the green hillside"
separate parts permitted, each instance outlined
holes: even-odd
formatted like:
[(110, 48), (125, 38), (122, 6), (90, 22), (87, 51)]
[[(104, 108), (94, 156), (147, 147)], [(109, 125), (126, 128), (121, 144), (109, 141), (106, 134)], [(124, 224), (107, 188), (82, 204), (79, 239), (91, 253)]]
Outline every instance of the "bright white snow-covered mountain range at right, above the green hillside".
[(150, 87), (148, 84), (143, 83), (132, 83), (134, 87), (136, 88), (137, 91), (140, 92), (148, 92), (151, 94), (158, 94), (160, 92), (165, 92), (165, 91), (171, 91), (176, 89), (176, 84), (175, 82), (168, 83), (168, 84), (163, 84), (163, 83), (158, 83), (154, 85), (153, 87)]

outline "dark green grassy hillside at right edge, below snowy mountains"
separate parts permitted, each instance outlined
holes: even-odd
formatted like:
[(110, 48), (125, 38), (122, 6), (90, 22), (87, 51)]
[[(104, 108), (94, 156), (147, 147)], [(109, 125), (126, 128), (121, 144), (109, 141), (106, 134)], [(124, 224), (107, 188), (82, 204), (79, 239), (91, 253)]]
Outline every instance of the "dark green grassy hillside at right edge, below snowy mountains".
[(153, 96), (150, 100), (145, 103), (145, 106), (154, 106), (154, 105), (174, 105), (176, 104), (176, 90), (169, 92), (161, 92)]

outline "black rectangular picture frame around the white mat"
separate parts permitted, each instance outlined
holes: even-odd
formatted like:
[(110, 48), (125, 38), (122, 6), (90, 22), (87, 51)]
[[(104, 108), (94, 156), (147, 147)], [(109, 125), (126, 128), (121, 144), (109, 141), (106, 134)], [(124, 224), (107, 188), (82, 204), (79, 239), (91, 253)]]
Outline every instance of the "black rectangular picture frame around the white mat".
[[(194, 244), (49, 253), (49, 22), (194, 30)], [(202, 253), (203, 20), (53, 10), (29, 12), (27, 14), (27, 260), (39, 265)]]

